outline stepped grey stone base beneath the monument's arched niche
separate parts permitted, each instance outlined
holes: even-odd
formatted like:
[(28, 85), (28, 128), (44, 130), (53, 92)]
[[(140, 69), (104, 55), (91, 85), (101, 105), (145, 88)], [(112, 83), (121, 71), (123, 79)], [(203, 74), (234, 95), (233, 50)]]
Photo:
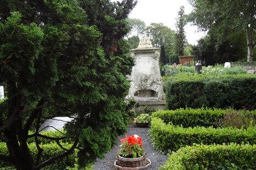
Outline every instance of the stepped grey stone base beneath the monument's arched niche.
[(158, 98), (135, 98), (135, 100), (139, 104), (136, 110), (141, 110), (144, 106), (150, 106), (155, 110), (166, 109), (166, 100), (160, 100)]

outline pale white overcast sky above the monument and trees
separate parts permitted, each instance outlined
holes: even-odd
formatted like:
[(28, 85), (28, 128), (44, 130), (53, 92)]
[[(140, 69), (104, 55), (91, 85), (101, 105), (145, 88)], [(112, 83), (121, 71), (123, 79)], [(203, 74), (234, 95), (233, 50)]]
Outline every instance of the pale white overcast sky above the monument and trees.
[[(186, 14), (192, 11), (192, 6), (187, 0), (138, 0), (129, 18), (143, 20), (147, 26), (151, 22), (162, 22), (172, 30), (176, 30), (176, 18), (181, 5), (185, 7)], [(185, 31), (190, 44), (197, 44), (197, 40), (205, 35), (203, 32), (198, 32), (196, 26), (190, 24), (186, 25)]]

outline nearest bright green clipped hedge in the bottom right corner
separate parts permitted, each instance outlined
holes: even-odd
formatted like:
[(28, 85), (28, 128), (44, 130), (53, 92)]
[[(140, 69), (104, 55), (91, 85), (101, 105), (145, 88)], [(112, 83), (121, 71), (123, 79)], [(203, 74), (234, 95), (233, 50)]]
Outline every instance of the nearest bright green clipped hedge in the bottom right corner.
[(159, 169), (256, 169), (256, 145), (194, 145), (173, 152)]

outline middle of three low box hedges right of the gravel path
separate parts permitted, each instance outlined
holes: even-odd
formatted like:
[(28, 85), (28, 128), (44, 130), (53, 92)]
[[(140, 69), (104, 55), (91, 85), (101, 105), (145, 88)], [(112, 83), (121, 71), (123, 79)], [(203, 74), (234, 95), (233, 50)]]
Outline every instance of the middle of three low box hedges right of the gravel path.
[(247, 129), (189, 127), (183, 128), (152, 118), (150, 131), (153, 146), (162, 152), (176, 151), (196, 144), (249, 143), (256, 144), (256, 127)]

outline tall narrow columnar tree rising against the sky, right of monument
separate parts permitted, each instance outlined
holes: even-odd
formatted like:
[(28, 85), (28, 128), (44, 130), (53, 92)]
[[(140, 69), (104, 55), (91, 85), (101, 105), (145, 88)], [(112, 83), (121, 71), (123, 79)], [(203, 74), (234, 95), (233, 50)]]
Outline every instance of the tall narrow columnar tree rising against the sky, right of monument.
[(184, 49), (186, 47), (186, 35), (184, 26), (186, 25), (186, 19), (184, 15), (184, 7), (181, 6), (178, 12), (178, 18), (176, 19), (176, 36), (175, 36), (175, 52), (179, 56), (184, 55)]

